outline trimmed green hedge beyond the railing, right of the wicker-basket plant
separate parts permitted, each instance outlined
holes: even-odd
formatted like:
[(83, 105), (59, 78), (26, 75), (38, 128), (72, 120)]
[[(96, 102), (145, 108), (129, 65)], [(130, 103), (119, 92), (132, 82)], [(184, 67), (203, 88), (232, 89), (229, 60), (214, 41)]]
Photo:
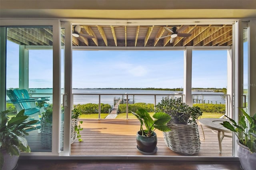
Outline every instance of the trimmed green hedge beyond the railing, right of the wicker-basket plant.
[(225, 104), (194, 104), (193, 106), (198, 106), (201, 108), (202, 112), (212, 112), (212, 113), (225, 113)]

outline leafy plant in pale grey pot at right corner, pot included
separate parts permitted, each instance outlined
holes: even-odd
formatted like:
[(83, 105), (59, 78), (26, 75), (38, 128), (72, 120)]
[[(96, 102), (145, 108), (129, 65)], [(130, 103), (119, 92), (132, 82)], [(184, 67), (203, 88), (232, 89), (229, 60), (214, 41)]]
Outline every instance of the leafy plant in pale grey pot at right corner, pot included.
[(220, 123), (228, 128), (237, 136), (238, 150), (237, 155), (244, 170), (254, 170), (256, 167), (256, 114), (252, 117), (240, 108), (243, 115), (240, 117), (238, 124), (231, 118), (231, 121)]

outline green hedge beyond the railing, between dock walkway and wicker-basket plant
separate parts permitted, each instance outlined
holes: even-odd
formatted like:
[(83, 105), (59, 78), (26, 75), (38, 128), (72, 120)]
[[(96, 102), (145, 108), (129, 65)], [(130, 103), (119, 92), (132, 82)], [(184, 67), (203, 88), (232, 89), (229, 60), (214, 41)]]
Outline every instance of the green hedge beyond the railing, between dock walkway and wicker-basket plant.
[[(147, 112), (154, 112), (154, 104), (152, 103), (134, 103), (128, 104), (128, 112), (136, 112), (138, 109), (145, 109)], [(118, 113), (126, 113), (126, 104), (120, 104)]]

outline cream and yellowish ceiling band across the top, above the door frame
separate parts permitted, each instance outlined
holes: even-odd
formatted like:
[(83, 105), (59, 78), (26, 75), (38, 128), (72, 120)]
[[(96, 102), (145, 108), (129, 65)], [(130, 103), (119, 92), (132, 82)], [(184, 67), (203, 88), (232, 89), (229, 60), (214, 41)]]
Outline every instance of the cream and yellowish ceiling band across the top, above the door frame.
[(256, 0), (0, 0), (0, 18), (251, 19)]

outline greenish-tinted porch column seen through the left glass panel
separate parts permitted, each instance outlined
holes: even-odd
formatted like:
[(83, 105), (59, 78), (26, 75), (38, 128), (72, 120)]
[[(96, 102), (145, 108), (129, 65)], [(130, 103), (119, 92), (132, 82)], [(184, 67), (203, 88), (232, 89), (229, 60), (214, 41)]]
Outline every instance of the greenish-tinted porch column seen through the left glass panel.
[(28, 90), (28, 49), (20, 45), (19, 49), (19, 89)]

